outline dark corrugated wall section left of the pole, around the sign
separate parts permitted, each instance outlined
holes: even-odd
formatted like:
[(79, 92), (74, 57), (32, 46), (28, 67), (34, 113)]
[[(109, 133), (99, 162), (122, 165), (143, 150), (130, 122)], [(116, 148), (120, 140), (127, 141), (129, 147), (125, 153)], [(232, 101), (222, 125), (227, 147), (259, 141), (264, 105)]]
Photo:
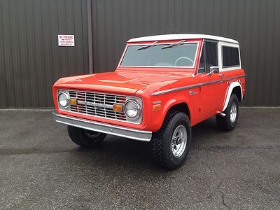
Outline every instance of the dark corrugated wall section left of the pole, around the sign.
[[(52, 107), (52, 84), (88, 72), (86, 0), (0, 0), (0, 108)], [(58, 47), (75, 34), (76, 47)]]

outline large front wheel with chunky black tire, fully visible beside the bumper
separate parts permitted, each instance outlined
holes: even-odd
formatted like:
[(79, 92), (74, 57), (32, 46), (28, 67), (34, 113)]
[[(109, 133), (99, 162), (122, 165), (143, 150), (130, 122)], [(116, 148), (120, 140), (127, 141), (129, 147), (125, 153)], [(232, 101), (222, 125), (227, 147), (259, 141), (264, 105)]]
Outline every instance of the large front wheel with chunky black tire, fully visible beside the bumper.
[(153, 133), (151, 148), (155, 162), (169, 170), (181, 167), (190, 150), (190, 119), (185, 113), (167, 113), (158, 132)]

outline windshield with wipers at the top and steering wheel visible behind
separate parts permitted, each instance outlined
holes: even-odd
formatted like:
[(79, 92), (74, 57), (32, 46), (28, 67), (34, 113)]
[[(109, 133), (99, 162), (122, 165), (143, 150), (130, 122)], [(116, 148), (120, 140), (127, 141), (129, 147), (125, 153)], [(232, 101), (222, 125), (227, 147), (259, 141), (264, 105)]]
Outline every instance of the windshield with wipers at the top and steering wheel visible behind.
[(195, 66), (197, 43), (128, 45), (120, 66)]

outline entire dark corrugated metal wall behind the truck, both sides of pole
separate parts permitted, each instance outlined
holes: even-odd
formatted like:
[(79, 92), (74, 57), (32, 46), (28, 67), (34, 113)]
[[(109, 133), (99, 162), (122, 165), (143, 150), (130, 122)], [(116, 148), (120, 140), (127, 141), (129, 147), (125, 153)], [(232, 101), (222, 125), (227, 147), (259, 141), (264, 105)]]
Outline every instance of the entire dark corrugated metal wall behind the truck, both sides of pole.
[[(137, 36), (214, 34), (237, 39), (243, 105), (280, 106), (279, 0), (92, 0), (94, 72), (113, 71)], [(58, 34), (76, 46), (58, 47)], [(58, 78), (88, 73), (86, 0), (0, 0), (0, 108), (50, 107)]]

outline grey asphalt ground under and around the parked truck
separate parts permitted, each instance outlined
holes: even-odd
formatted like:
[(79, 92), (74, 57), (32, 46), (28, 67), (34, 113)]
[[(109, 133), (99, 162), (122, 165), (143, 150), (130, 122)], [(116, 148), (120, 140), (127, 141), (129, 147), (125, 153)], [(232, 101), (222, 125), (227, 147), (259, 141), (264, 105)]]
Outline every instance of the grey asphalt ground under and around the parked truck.
[(242, 108), (232, 132), (196, 125), (172, 172), (144, 142), (80, 148), (51, 113), (0, 110), (1, 209), (280, 209), (280, 109)]

